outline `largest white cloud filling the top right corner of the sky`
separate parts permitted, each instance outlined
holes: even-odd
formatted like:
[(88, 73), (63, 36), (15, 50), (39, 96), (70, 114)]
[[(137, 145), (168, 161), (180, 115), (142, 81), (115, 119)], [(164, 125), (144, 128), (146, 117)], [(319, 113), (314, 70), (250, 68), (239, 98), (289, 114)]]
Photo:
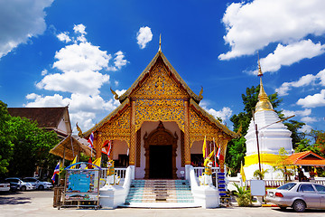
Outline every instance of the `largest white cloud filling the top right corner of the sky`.
[(224, 40), (231, 50), (218, 58), (229, 60), (254, 54), (272, 42), (291, 44), (308, 35), (319, 36), (325, 33), (324, 11), (322, 0), (232, 3), (222, 19), (227, 31)]

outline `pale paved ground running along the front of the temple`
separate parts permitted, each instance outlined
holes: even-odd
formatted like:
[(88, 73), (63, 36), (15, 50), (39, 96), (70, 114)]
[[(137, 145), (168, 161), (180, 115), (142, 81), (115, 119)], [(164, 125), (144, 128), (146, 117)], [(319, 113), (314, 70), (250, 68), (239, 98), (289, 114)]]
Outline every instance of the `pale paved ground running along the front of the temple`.
[(280, 211), (277, 207), (228, 207), (218, 209), (131, 209), (118, 208), (116, 210), (98, 210), (93, 209), (56, 209), (52, 207), (52, 191), (34, 191), (23, 193), (0, 193), (0, 216), (325, 216), (325, 210), (307, 210), (307, 212), (296, 213), (292, 209)]

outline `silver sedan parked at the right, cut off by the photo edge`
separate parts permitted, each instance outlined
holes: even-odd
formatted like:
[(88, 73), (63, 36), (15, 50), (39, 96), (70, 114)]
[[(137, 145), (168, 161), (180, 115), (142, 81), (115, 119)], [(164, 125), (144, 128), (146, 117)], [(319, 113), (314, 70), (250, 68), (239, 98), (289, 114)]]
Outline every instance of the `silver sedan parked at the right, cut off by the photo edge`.
[(280, 209), (292, 207), (295, 212), (306, 208), (325, 209), (325, 186), (314, 183), (287, 183), (267, 190), (265, 201), (277, 204)]

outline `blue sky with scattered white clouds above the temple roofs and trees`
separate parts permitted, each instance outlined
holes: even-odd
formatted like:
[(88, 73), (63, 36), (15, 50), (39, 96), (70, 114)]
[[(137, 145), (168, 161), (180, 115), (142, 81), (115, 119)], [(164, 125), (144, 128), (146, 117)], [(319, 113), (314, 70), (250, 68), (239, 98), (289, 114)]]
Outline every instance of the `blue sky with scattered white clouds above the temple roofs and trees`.
[(324, 130), (325, 2), (0, 0), (0, 99), (8, 107), (70, 107), (72, 126), (93, 127), (118, 106), (162, 50), (200, 106), (222, 118), (244, 109), (256, 86), (286, 116)]

